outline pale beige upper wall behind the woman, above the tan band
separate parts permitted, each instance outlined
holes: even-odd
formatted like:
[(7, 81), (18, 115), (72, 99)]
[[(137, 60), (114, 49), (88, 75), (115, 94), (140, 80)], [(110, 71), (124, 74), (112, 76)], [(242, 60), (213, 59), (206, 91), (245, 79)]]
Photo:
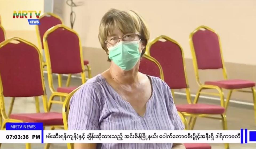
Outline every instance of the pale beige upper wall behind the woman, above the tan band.
[[(64, 7), (69, 24), (70, 7)], [(191, 58), (189, 33), (207, 25), (221, 37), (225, 62), (256, 64), (255, 0), (84, 0), (83, 6), (74, 8), (74, 29), (83, 46), (100, 48), (98, 26), (110, 8), (139, 12), (149, 25), (151, 39), (170, 36), (182, 45), (186, 58)]]

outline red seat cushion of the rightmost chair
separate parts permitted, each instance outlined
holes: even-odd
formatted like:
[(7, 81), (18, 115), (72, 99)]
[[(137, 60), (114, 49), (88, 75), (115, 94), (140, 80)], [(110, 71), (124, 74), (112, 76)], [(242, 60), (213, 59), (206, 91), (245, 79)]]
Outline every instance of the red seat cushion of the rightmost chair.
[(255, 86), (255, 82), (248, 81), (248, 80), (240, 80), (240, 79), (233, 79), (233, 80), (221, 80), (221, 81), (206, 81), (205, 84), (207, 85), (215, 85), (224, 89), (243, 89), (247, 87)]

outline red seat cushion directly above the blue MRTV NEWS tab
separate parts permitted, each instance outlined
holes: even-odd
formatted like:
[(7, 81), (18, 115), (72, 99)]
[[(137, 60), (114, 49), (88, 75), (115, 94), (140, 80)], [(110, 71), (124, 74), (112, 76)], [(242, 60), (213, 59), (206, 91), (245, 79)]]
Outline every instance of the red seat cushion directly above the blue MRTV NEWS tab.
[(24, 122), (42, 122), (44, 126), (63, 125), (62, 113), (58, 112), (11, 114), (10, 118)]

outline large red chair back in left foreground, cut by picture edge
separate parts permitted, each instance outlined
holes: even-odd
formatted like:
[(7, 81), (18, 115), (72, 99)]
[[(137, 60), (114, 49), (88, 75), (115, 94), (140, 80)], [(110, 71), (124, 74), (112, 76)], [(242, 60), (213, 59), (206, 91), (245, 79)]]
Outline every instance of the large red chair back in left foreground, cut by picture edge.
[[(13, 43), (14, 41), (19, 43)], [(0, 76), (3, 95), (6, 97), (43, 95), (41, 67), (41, 55), (32, 43), (16, 37), (2, 42), (0, 44)]]

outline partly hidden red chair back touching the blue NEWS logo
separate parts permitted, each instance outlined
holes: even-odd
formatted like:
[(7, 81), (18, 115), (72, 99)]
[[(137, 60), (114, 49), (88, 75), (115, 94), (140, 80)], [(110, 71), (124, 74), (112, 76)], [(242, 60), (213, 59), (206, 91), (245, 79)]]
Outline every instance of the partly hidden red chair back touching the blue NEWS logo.
[(51, 27), (58, 25), (58, 24), (62, 24), (62, 20), (59, 16), (48, 12), (48, 13), (42, 15), (41, 17), (39, 17), (39, 21), (40, 21), (40, 25), (38, 25), (38, 33), (39, 33), (38, 36), (40, 36), (39, 45), (42, 45), (42, 49), (44, 49), (43, 48), (43, 35)]

